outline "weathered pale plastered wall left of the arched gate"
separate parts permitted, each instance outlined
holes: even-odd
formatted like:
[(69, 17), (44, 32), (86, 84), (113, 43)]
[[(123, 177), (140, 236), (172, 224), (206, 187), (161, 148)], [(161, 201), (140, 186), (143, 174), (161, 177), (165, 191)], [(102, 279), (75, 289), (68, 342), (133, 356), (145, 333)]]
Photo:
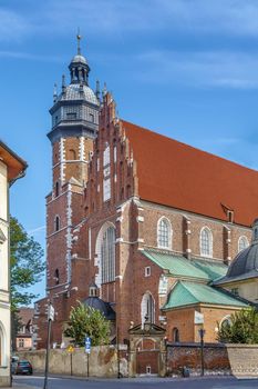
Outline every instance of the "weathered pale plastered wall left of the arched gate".
[[(123, 345), (123, 349), (125, 346)], [(120, 351), (120, 372), (127, 376), (127, 360), (125, 351)], [(45, 351), (18, 352), (20, 359), (28, 359), (35, 372), (44, 372)], [(53, 375), (87, 376), (87, 355), (84, 349), (75, 349), (73, 353), (61, 349), (51, 349), (49, 371)], [(113, 346), (93, 347), (89, 356), (90, 377), (117, 377), (117, 352)]]

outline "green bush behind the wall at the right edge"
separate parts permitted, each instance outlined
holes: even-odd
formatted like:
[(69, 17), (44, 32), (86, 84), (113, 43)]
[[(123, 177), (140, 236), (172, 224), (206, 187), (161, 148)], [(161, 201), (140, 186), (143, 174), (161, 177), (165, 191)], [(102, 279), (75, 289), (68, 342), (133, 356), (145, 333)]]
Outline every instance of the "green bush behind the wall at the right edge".
[(258, 343), (258, 312), (246, 308), (230, 316), (219, 328), (218, 340), (225, 343)]

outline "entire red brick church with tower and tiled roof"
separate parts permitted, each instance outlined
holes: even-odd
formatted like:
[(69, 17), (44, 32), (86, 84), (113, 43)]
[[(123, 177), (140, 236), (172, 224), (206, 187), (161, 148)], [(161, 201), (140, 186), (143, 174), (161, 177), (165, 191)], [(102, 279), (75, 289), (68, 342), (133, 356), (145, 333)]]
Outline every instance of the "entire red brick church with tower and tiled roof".
[[(72, 306), (85, 301), (127, 342), (148, 320), (171, 341), (216, 341), (219, 323), (247, 301), (215, 288), (251, 241), (258, 172), (117, 118), (115, 101), (89, 86), (78, 54), (54, 91), (52, 188), (47, 196), (47, 297), (35, 303), (37, 348), (65, 342)], [(136, 120), (136, 119), (135, 119)]]

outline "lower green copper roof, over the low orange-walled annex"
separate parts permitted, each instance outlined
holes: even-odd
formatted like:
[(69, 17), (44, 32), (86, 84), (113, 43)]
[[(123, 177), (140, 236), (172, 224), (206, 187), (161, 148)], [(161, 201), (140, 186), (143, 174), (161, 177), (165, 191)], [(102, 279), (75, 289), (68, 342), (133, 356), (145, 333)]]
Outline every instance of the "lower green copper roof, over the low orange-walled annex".
[(207, 285), (178, 281), (172, 289), (168, 300), (163, 309), (173, 309), (195, 303), (247, 307), (247, 305), (240, 300), (230, 297), (218, 289), (208, 287)]

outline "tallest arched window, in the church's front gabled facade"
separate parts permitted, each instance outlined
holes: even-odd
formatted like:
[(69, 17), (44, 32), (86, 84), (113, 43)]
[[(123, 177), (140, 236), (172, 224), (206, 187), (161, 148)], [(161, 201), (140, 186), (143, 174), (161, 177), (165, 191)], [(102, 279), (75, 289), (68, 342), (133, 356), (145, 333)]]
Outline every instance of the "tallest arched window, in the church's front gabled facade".
[(115, 280), (115, 229), (109, 227), (101, 245), (102, 283)]

